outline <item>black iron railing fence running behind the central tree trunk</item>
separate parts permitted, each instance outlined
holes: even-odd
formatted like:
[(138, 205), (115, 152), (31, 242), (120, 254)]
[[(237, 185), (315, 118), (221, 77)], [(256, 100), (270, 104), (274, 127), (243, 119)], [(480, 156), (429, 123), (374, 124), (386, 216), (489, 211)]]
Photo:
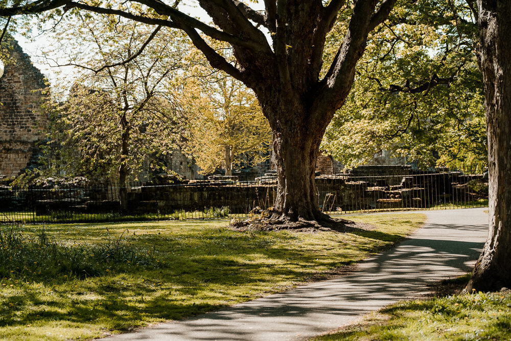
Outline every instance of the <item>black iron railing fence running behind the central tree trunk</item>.
[[(175, 180), (174, 180), (175, 181)], [(217, 176), (180, 182), (0, 187), (0, 221), (65, 223), (247, 217), (273, 206), (277, 180)], [(125, 193), (122, 204), (120, 194)], [(361, 167), (316, 176), (319, 207), (329, 214), (487, 206), (481, 170), (413, 171)]]

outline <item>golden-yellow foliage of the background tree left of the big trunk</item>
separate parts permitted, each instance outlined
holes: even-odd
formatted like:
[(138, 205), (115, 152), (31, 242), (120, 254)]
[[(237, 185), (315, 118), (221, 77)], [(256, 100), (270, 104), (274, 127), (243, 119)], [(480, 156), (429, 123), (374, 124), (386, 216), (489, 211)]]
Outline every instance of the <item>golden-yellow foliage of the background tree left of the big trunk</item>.
[[(228, 60), (234, 60), (226, 44), (212, 44)], [(190, 115), (186, 127), (187, 150), (201, 173), (216, 169), (250, 167), (268, 157), (271, 132), (252, 90), (226, 74), (204, 66), (197, 50), (188, 56), (194, 65), (183, 79), (179, 101)]]

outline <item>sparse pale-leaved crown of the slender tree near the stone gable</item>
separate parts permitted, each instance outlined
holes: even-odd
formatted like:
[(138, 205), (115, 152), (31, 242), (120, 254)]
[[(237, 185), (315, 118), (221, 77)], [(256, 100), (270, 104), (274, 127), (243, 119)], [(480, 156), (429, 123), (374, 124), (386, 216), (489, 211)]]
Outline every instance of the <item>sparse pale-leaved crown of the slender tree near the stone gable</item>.
[[(69, 35), (69, 31), (73, 35)], [(53, 48), (74, 66), (53, 84), (44, 161), (57, 175), (136, 177), (159, 168), (179, 139), (173, 77), (181, 67), (182, 36), (103, 15), (65, 14)], [(46, 51), (48, 55), (56, 52)]]

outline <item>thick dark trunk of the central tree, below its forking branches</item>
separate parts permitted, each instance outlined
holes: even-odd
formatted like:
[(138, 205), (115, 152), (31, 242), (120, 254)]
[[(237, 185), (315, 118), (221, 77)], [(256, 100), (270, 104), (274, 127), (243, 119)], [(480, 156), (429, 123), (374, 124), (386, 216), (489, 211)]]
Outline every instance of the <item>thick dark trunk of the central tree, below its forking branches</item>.
[[(314, 176), (319, 144), (330, 120), (312, 120), (314, 112), (300, 115), (309, 120), (297, 119), (294, 114), (309, 109), (299, 96), (290, 97), (294, 100), (277, 100), (275, 107), (263, 106), (263, 112), (272, 110), (268, 117), (277, 118), (269, 120), (278, 182), (272, 219), (308, 224), (331, 221), (319, 210)], [(326, 112), (321, 111), (322, 115)]]

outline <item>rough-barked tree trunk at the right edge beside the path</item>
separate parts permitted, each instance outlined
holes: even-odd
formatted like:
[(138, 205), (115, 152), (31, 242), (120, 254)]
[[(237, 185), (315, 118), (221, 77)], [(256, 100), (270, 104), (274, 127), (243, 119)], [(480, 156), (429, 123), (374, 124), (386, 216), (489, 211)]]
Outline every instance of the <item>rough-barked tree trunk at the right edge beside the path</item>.
[(478, 0), (488, 133), (490, 232), (467, 289), (511, 287), (511, 2)]

